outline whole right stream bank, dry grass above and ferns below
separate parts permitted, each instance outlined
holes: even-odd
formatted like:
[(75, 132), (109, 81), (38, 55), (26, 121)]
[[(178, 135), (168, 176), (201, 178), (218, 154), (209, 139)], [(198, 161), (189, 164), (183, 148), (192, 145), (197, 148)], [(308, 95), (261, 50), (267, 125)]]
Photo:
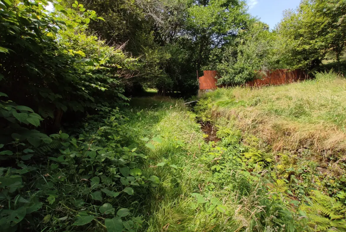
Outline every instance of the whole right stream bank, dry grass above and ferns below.
[(217, 125), (222, 144), (229, 133), (250, 147), (239, 157), (247, 175), (270, 173), (268, 188), (308, 219), (305, 231), (344, 231), (345, 87), (337, 74), (318, 73), (289, 85), (218, 89), (195, 110)]

